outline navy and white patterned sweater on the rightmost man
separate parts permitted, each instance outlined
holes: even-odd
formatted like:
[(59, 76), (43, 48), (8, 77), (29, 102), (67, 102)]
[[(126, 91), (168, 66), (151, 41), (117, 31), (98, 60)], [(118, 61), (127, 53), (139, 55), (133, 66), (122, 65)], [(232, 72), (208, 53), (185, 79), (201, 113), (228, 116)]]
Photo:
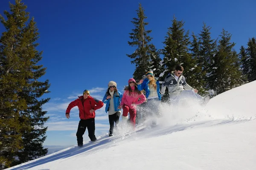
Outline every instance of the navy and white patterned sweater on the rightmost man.
[(174, 74), (169, 74), (168, 76), (166, 76), (166, 78), (164, 79), (164, 82), (162, 84), (162, 88), (160, 93), (164, 94), (166, 87), (168, 87), (168, 91), (169, 91), (169, 95), (177, 95), (180, 93), (180, 91), (183, 91), (184, 89), (186, 90), (194, 90), (194, 88), (190, 87), (190, 85), (188, 85), (186, 83), (186, 79), (183, 75), (180, 75), (178, 81), (175, 79)]

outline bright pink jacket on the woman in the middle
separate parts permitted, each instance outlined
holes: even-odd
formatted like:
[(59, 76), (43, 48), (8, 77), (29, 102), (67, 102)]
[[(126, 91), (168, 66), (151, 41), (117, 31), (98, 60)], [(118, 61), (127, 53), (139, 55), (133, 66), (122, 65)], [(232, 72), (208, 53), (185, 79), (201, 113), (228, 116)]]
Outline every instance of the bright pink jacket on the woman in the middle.
[[(140, 105), (141, 103), (146, 101), (146, 97), (144, 94), (137, 94), (136, 92), (130, 92), (126, 90), (123, 94), (122, 101), (120, 106), (127, 105), (131, 109), (135, 109), (136, 105)], [(140, 100), (138, 101), (138, 99)], [(133, 104), (133, 105), (131, 105)]]

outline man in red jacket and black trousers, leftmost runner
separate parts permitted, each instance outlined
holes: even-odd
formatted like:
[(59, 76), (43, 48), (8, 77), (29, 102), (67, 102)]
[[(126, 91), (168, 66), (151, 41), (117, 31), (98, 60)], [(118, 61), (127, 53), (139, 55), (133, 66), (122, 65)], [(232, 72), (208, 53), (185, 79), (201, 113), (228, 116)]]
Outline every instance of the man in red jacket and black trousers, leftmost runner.
[(102, 108), (103, 102), (99, 101), (90, 96), (90, 91), (84, 90), (83, 96), (79, 96), (78, 99), (71, 102), (66, 111), (67, 119), (70, 118), (70, 110), (77, 106), (79, 109), (79, 125), (76, 132), (77, 145), (79, 147), (83, 146), (83, 134), (88, 129), (88, 136), (91, 141), (96, 141), (95, 137), (95, 111), (99, 108)]

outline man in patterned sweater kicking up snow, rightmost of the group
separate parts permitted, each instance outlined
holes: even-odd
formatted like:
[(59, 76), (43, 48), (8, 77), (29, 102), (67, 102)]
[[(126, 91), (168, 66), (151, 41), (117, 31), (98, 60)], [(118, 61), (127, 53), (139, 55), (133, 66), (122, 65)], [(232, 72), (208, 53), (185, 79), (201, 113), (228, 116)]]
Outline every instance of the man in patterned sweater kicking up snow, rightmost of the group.
[(197, 89), (190, 87), (182, 75), (183, 71), (184, 68), (177, 65), (175, 71), (165, 77), (160, 93), (164, 94), (166, 87), (168, 87), (171, 102), (179, 102), (182, 98), (190, 98), (197, 99), (200, 104), (206, 105), (209, 102), (209, 96), (202, 97), (198, 94)]

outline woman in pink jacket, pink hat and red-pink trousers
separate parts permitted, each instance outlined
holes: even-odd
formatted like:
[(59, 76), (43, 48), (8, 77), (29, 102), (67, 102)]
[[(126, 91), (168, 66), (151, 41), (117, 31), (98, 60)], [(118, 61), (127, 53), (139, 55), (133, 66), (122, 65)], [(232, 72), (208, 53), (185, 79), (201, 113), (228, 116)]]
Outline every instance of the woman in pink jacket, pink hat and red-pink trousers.
[(124, 90), (125, 92), (118, 108), (123, 109), (123, 121), (128, 119), (128, 112), (130, 113), (131, 124), (135, 127), (136, 105), (140, 105), (145, 102), (146, 97), (138, 90), (137, 83), (133, 78), (128, 80), (128, 86), (126, 86)]

